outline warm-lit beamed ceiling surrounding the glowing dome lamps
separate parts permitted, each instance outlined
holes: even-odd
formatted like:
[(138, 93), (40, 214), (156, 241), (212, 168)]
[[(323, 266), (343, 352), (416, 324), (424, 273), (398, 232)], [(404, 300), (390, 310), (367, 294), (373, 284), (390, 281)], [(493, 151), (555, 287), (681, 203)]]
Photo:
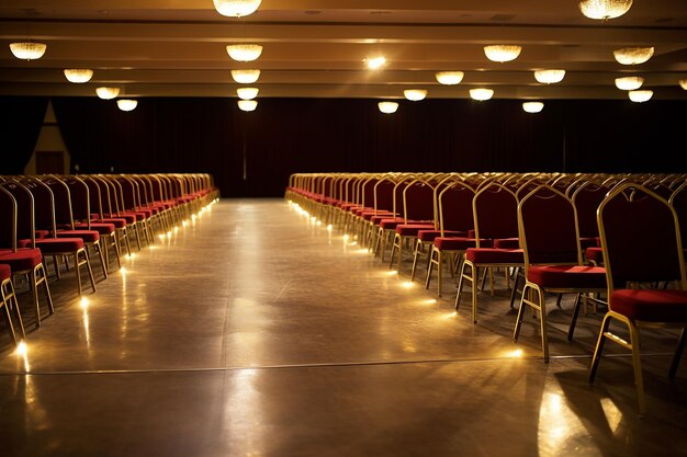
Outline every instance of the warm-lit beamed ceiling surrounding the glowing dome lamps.
[[(623, 16), (582, 15), (578, 0), (263, 0), (246, 18), (226, 18), (212, 0), (2, 0), (0, 95), (95, 96), (119, 85), (127, 96), (235, 96), (229, 70), (258, 68), (259, 96), (468, 98), (488, 87), (496, 99), (627, 99), (613, 80), (638, 75), (654, 99), (687, 100), (687, 1), (634, 0)], [(38, 60), (19, 60), (9, 44), (47, 44)], [(263, 46), (251, 64), (225, 46)], [(518, 44), (518, 59), (498, 64), (488, 44)], [(653, 46), (646, 64), (622, 66), (612, 50)], [(384, 55), (369, 70), (364, 59)], [(85, 84), (64, 68), (91, 68)], [(558, 84), (532, 71), (562, 68)], [(463, 82), (439, 84), (435, 72), (462, 70)]]

